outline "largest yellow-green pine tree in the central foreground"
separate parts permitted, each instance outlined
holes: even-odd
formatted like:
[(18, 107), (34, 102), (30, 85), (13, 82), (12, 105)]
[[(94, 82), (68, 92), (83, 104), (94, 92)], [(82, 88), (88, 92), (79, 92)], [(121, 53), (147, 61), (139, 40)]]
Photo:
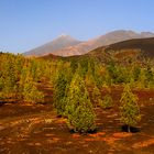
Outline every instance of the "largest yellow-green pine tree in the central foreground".
[(74, 131), (86, 133), (95, 130), (95, 112), (82, 78), (76, 74), (73, 78), (68, 95), (66, 114), (68, 127)]

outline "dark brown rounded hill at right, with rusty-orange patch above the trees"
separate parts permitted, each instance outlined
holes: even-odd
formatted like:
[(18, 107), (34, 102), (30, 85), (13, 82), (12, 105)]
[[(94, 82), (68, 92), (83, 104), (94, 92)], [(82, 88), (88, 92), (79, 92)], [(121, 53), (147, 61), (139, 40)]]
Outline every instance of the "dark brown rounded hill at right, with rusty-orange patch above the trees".
[(98, 47), (85, 56), (96, 57), (102, 62), (114, 58), (118, 62), (127, 59), (154, 58), (154, 37), (133, 38)]

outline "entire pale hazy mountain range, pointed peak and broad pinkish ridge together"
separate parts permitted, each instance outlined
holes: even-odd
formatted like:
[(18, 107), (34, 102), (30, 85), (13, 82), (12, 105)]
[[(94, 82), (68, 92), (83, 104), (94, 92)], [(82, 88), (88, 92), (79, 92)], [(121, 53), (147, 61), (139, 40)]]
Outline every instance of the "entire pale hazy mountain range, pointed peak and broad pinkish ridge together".
[(145, 38), (145, 37), (154, 37), (154, 33), (151, 32), (136, 33), (133, 31), (120, 30), (107, 33), (94, 40), (89, 40), (87, 42), (80, 42), (67, 35), (61, 36), (51, 43), (47, 43), (43, 46), (40, 46), (28, 53), (24, 53), (24, 55), (35, 55), (35, 56), (42, 56), (46, 54), (54, 54), (58, 56), (82, 55), (99, 46), (107, 46), (127, 40)]

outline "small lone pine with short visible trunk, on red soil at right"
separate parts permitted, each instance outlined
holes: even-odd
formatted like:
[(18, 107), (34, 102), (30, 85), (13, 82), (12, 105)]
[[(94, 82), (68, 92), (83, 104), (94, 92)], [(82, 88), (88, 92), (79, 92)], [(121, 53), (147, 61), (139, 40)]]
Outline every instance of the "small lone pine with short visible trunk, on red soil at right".
[(130, 127), (135, 127), (141, 120), (141, 116), (138, 97), (133, 95), (129, 85), (125, 85), (120, 102), (121, 122), (128, 125), (128, 132), (130, 132)]

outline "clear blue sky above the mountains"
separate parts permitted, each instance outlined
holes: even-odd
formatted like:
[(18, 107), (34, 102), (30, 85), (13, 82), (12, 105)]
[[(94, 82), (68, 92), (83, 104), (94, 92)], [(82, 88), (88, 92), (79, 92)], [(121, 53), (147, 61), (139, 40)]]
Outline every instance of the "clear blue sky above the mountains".
[(0, 51), (23, 53), (62, 34), (154, 32), (154, 0), (0, 0)]

